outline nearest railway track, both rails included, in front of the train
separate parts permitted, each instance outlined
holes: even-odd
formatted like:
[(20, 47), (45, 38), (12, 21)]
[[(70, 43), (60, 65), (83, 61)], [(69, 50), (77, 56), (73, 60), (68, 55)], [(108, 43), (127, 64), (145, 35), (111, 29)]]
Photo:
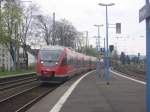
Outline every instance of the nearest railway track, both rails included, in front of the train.
[(22, 92), (18, 92), (0, 101), (2, 112), (23, 112), (31, 107), (35, 102), (53, 91), (58, 85), (41, 86), (36, 85)]

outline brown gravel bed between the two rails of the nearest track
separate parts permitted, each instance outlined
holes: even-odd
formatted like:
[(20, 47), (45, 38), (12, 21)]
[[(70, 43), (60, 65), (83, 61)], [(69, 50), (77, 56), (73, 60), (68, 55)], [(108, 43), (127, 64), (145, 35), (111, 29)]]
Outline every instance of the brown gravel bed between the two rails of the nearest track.
[(31, 100), (53, 88), (54, 87), (52, 86), (39, 86), (22, 94), (16, 95), (9, 100), (0, 102), (0, 110), (1, 112), (15, 112)]

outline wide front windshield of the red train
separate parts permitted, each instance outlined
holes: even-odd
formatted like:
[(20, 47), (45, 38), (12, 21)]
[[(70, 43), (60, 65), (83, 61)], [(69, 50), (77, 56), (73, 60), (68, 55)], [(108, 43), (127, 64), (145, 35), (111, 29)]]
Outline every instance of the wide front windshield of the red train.
[(57, 61), (61, 53), (60, 50), (41, 50), (40, 58), (43, 61)]

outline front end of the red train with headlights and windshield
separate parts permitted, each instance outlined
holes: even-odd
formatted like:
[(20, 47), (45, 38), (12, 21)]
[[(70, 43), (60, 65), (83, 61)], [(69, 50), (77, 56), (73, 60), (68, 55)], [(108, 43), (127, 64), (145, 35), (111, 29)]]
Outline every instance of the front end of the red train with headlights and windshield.
[(37, 57), (37, 75), (42, 83), (60, 83), (64, 78), (58, 77), (64, 49), (50, 47), (41, 49)]

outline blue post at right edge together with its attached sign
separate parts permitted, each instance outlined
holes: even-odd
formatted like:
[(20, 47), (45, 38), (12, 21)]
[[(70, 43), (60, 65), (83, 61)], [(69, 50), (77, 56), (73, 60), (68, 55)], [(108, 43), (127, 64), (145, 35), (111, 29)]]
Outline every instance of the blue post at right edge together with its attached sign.
[(139, 11), (139, 22), (146, 19), (146, 100), (147, 112), (150, 112), (150, 3), (146, 0), (146, 5)]

